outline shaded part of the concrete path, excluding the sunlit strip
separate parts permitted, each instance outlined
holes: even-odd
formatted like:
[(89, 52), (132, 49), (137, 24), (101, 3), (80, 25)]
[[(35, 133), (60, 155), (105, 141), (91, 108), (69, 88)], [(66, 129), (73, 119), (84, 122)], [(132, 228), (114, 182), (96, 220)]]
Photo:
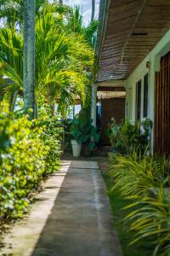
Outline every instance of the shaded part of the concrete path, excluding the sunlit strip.
[(32, 256), (119, 256), (95, 161), (72, 161)]

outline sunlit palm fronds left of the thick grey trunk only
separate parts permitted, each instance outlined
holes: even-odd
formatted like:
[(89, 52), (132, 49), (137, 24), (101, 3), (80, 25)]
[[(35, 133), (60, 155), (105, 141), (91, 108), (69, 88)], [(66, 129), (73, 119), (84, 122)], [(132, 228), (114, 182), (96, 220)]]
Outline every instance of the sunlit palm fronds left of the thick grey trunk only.
[(23, 38), (13, 28), (0, 30), (0, 74), (8, 78), (0, 90), (13, 111), (16, 96), (23, 90)]

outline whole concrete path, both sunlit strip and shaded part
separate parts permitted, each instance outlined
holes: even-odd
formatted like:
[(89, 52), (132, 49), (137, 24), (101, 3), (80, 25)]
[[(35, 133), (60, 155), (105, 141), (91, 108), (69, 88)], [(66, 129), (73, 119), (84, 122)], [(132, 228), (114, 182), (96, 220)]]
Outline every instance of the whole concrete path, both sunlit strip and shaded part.
[(44, 201), (37, 202), (24, 223), (14, 225), (0, 255), (121, 255), (96, 161), (63, 161), (61, 172), (50, 177), (39, 197)]

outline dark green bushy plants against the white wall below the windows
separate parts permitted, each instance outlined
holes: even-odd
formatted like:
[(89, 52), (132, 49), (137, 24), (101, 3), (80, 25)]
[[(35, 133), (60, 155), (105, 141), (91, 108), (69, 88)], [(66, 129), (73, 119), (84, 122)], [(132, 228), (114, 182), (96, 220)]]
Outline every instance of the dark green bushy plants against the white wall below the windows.
[(140, 154), (144, 154), (149, 147), (151, 121), (144, 119), (137, 123), (116, 124), (114, 121), (110, 127), (111, 145), (115, 152), (131, 154), (136, 149)]

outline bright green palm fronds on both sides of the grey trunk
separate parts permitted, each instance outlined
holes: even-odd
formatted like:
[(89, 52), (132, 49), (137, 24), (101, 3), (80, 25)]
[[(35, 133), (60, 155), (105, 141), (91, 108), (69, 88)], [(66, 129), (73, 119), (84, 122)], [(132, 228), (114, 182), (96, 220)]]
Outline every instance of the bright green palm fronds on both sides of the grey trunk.
[[(53, 10), (50, 11), (52, 8), (45, 7), (37, 16), (36, 95), (37, 102), (42, 101), (44, 96), (52, 107), (60, 99), (59, 112), (65, 115), (68, 106), (74, 104), (75, 96), (80, 96), (82, 104), (85, 102), (88, 95), (84, 92), (88, 84), (86, 70), (93, 66), (94, 50), (81, 33), (66, 30), (65, 24), (60, 23), (59, 15), (54, 16)], [(20, 68), (23, 39), (20, 32), (3, 28), (0, 32), (0, 47), (0, 74), (12, 81), (3, 86), (4, 97), (9, 99), (15, 90), (20, 91), (20, 94), (23, 92)]]

